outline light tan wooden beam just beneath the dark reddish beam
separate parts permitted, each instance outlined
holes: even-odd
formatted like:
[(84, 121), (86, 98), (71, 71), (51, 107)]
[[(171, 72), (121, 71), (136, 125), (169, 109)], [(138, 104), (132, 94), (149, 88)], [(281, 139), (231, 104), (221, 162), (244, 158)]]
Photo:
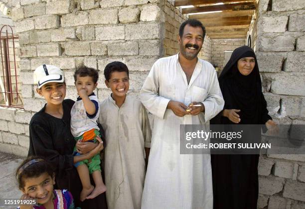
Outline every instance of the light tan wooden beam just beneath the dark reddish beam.
[(217, 17), (237, 17), (254, 14), (254, 9), (249, 10), (238, 10), (238, 11), (222, 11), (207, 14), (191, 14), (188, 16), (189, 19), (208, 19)]

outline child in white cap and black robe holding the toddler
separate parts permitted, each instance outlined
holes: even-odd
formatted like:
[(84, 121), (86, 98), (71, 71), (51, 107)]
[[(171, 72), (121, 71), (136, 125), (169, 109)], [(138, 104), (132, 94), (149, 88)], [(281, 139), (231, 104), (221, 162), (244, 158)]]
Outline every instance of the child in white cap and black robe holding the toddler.
[[(73, 164), (90, 159), (103, 149), (100, 143), (77, 142), (70, 130), (72, 100), (65, 100), (66, 84), (63, 71), (52, 65), (41, 65), (34, 71), (37, 93), (46, 100), (29, 124), (28, 156), (42, 156), (55, 168), (55, 189), (67, 189), (74, 197), (75, 206), (82, 209), (106, 208), (105, 195), (80, 202), (81, 181)], [(100, 128), (101, 130), (101, 128)], [(82, 155), (73, 156), (73, 148)]]

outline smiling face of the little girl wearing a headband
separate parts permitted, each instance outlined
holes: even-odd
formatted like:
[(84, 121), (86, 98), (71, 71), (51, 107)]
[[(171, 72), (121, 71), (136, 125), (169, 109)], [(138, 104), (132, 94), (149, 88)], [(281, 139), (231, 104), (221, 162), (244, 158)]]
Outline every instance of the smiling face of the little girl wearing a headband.
[(24, 177), (24, 188), (22, 192), (29, 197), (36, 199), (36, 204), (46, 204), (53, 199), (53, 185), (55, 177), (51, 177), (47, 172), (38, 177)]

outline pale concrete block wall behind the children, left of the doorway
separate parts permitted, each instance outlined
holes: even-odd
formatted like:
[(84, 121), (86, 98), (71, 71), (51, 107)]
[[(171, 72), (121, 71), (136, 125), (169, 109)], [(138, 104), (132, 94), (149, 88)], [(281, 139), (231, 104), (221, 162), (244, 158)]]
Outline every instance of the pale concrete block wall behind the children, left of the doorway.
[(112, 61), (127, 64), (130, 94), (137, 95), (160, 57), (164, 24), (162, 0), (14, 0), (11, 17), (20, 37), (20, 77), (24, 109), (0, 107), (0, 151), (26, 156), (28, 124), (45, 101), (33, 85), (33, 71), (46, 63), (65, 72), (66, 98), (76, 100), (73, 73), (96, 68), (96, 93), (108, 97), (103, 70)]

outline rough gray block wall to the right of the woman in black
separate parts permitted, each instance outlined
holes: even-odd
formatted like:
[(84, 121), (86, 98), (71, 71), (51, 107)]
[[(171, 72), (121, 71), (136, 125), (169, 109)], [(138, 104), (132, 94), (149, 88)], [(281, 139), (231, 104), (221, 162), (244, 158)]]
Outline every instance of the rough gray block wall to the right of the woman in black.
[[(305, 1), (260, 0), (256, 52), (268, 109), (305, 124)], [(305, 155), (262, 155), (259, 208), (305, 208)]]

